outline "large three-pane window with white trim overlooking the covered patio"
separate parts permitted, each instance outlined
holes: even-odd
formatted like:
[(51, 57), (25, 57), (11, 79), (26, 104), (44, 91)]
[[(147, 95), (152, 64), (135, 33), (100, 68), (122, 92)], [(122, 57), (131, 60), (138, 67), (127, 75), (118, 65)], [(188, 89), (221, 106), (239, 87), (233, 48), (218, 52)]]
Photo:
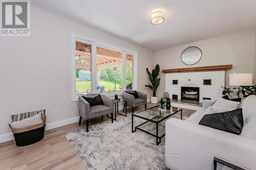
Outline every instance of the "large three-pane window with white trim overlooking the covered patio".
[[(80, 94), (136, 89), (137, 53), (72, 34), (72, 100)], [(137, 61), (137, 60), (136, 60)]]

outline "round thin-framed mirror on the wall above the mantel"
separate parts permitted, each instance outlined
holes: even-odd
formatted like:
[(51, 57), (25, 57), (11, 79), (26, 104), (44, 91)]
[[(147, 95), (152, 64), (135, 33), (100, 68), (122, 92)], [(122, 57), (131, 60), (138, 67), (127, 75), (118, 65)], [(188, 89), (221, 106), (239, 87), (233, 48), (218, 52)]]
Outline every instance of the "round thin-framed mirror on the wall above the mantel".
[(190, 46), (187, 47), (181, 54), (181, 61), (186, 65), (194, 65), (202, 57), (202, 51), (199, 47)]

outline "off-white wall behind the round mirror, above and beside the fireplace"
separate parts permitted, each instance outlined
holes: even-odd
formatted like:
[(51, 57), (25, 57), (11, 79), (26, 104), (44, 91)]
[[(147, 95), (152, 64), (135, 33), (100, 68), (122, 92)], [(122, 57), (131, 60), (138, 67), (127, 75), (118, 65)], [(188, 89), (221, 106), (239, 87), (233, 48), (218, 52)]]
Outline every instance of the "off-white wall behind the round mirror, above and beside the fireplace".
[[(202, 51), (201, 60), (192, 66), (181, 62), (183, 50), (189, 46), (198, 46)], [(232, 64), (232, 69), (225, 73), (225, 85), (229, 85), (229, 74), (234, 71), (241, 73), (254, 73), (255, 30), (227, 36), (211, 38), (203, 41), (166, 48), (155, 52), (155, 64), (161, 70), (168, 68), (198, 67), (210, 65)], [(158, 96), (164, 92), (164, 74), (160, 74), (161, 82), (157, 91)]]

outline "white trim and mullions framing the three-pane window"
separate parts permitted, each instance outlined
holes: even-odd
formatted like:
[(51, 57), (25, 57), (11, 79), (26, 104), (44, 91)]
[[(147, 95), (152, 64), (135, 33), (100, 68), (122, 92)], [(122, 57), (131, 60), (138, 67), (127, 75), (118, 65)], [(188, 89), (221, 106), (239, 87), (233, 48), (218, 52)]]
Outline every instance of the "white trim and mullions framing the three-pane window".
[[(88, 37), (84, 37), (82, 35), (79, 34), (75, 34), (75, 33), (71, 33), (71, 65), (72, 65), (72, 69), (71, 69), (71, 101), (72, 102), (76, 102), (78, 101), (78, 96), (76, 94), (76, 41), (79, 42), (84, 42), (87, 44), (91, 44), (91, 90), (92, 93), (96, 93), (96, 85), (97, 85), (97, 72), (96, 72), (96, 47), (103, 47), (103, 48), (107, 48), (109, 50), (115, 50), (118, 52), (122, 53), (122, 61), (126, 61), (126, 54), (130, 54), (133, 55), (133, 89), (136, 90), (137, 89), (137, 63), (138, 63), (138, 53), (134, 52), (132, 50), (127, 50), (125, 48), (116, 46), (116, 45), (112, 45), (109, 43), (105, 43), (105, 42), (101, 42), (92, 38), (88, 38)], [(122, 75), (123, 75), (123, 83), (122, 83), (122, 89), (125, 90), (126, 86), (125, 86), (125, 81), (126, 81), (126, 62), (122, 62)], [(115, 94), (121, 95), (122, 91), (113, 91), (113, 92), (106, 92), (104, 93), (105, 95), (108, 96), (114, 96)]]

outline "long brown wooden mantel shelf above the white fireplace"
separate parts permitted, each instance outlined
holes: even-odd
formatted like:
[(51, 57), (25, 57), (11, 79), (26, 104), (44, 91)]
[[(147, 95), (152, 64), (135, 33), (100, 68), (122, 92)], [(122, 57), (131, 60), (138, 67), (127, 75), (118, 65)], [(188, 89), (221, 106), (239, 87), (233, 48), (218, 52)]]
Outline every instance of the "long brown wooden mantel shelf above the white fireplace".
[(177, 73), (177, 72), (202, 72), (202, 71), (224, 71), (228, 68), (232, 68), (232, 64), (229, 65), (212, 65), (204, 67), (187, 67), (187, 68), (173, 68), (163, 69), (164, 73)]

